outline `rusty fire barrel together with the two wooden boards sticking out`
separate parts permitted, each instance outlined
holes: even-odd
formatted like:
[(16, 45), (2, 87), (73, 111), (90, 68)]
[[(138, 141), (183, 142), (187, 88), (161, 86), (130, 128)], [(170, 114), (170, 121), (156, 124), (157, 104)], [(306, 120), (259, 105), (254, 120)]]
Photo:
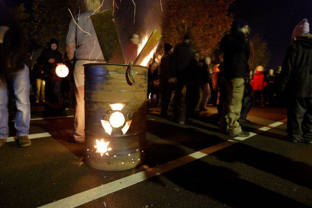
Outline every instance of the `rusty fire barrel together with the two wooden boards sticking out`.
[[(108, 63), (84, 65), (86, 163), (98, 170), (126, 170), (143, 161), (148, 68), (118, 64), (124, 59), (112, 11), (99, 12), (91, 19)], [(155, 30), (137, 64), (149, 59), (160, 37)]]

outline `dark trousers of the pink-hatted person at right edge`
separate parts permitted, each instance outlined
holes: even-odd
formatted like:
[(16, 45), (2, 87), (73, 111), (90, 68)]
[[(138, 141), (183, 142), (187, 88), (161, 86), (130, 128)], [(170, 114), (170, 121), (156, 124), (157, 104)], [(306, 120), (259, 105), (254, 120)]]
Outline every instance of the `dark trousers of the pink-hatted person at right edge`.
[(312, 141), (312, 97), (289, 96), (287, 133), (297, 141)]

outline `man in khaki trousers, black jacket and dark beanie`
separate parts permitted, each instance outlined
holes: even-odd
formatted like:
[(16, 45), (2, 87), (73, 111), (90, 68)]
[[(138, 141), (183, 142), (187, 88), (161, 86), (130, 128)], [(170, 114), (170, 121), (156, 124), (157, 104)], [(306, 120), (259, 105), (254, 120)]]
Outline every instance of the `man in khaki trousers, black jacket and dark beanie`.
[(237, 119), (240, 117), (245, 79), (249, 78), (248, 59), (250, 46), (246, 37), (250, 33), (248, 23), (233, 22), (229, 34), (221, 38), (220, 51), (223, 52), (224, 77), (226, 79), (226, 101), (223, 104), (219, 129), (233, 137), (249, 137), (242, 131)]

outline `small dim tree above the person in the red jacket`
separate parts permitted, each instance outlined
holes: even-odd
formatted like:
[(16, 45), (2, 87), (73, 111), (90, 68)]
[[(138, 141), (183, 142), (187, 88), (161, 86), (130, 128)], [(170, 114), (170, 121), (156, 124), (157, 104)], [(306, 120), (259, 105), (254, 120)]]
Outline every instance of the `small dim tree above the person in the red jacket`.
[(271, 56), (271, 53), (268, 50), (267, 42), (258, 34), (255, 34), (251, 38), (250, 42), (252, 47), (248, 64), (252, 67), (251, 70), (254, 71), (258, 65), (263, 66), (266, 70)]

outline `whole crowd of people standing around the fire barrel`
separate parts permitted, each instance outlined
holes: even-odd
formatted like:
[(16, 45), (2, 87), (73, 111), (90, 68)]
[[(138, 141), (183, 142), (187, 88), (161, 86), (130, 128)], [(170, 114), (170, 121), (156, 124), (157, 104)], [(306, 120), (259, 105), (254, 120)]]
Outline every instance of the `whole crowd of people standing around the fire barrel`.
[[(0, 3), (3, 4), (2, 1)], [(86, 0), (85, 3), (88, 11), (73, 17), (70, 22), (66, 54), (63, 56), (58, 51), (58, 40), (51, 38), (33, 67), (37, 86), (35, 103), (44, 103), (46, 113), (62, 113), (68, 99), (70, 103), (76, 103), (74, 130), (68, 138), (74, 143), (84, 143), (85, 136), (83, 65), (105, 63), (90, 18), (99, 11), (101, 2)], [(31, 145), (28, 138), (29, 57), (22, 30), (5, 5), (0, 5), (0, 8), (0, 146), (8, 137), (8, 91), (11, 86), (17, 106), (16, 136), (20, 147), (26, 147)], [(86, 32), (91, 35), (85, 35)], [(163, 53), (156, 55), (149, 66), (148, 97), (153, 100), (156, 95), (155, 105), (160, 103), (162, 118), (180, 124), (191, 122), (189, 118), (207, 111), (205, 106), (210, 102), (217, 106), (220, 132), (233, 137), (249, 137), (250, 133), (241, 129), (241, 123), (250, 122), (247, 115), (252, 105), (282, 106), (283, 92), (287, 92), (287, 132), (290, 139), (312, 143), (312, 38), (308, 20), (302, 20), (294, 29), (292, 45), (286, 52), (282, 67), (276, 71), (266, 70), (260, 65), (251, 71), (248, 64), (250, 43), (247, 40), (250, 32), (247, 22), (234, 21), (230, 32), (220, 41), (220, 55), (215, 60), (192, 48), (190, 34), (186, 34), (175, 47), (165, 43)], [(135, 60), (138, 43), (139, 35), (132, 34), (124, 52), (126, 64)], [(56, 67), (61, 63), (66, 64), (70, 71), (65, 79), (56, 74)]]

